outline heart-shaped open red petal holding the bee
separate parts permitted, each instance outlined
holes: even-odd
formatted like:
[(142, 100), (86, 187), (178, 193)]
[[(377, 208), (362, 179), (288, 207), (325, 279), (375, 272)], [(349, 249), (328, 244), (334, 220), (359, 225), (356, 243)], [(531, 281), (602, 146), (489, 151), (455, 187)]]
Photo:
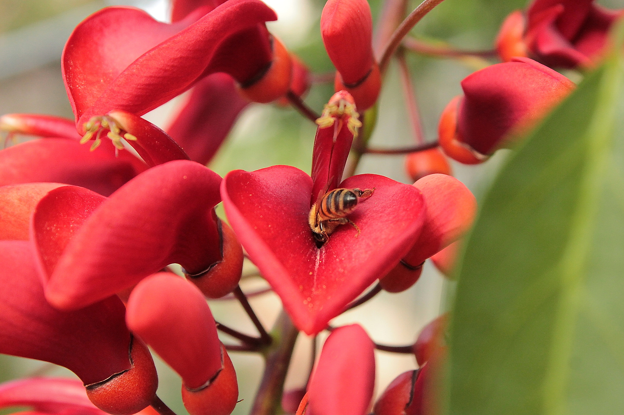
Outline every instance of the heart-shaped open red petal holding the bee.
[(316, 248), (308, 225), (310, 176), (295, 167), (235, 170), (223, 180), (225, 212), (236, 236), (292, 317), (308, 334), (388, 273), (422, 226), (419, 191), (387, 177), (357, 175), (343, 187), (376, 188), (349, 215), (361, 233), (339, 226)]

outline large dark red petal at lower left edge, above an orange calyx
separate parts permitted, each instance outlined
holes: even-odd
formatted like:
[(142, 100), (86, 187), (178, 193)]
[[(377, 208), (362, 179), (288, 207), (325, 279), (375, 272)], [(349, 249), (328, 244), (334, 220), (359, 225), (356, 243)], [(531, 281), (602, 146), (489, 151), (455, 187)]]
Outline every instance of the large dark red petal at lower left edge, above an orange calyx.
[(44, 297), (28, 242), (0, 241), (0, 261), (0, 353), (65, 366), (85, 385), (130, 368), (119, 298), (61, 312)]

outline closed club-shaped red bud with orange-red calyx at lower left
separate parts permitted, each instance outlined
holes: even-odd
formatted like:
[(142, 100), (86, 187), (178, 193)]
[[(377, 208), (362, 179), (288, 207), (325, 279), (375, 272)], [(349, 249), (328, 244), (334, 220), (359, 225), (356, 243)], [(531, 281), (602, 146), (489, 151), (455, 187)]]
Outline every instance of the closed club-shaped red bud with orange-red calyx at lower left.
[(238, 399), (236, 373), (197, 287), (171, 273), (147, 277), (130, 294), (126, 320), (182, 377), (190, 414), (232, 413)]

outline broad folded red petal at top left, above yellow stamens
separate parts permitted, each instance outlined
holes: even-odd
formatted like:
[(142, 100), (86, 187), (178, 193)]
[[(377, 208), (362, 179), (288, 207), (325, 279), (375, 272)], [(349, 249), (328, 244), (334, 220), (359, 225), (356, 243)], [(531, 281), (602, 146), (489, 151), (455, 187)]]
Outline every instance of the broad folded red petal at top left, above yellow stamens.
[(62, 57), (77, 121), (152, 110), (205, 75), (221, 40), (276, 19), (259, 0), (230, 0), (196, 20), (205, 10), (170, 25), (139, 9), (108, 7), (79, 24)]

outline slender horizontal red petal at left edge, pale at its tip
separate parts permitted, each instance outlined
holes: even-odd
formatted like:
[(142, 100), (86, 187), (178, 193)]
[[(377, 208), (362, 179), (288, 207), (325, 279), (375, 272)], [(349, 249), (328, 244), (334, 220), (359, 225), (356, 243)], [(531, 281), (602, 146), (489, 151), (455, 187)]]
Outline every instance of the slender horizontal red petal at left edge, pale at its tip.
[(0, 117), (0, 129), (39, 137), (69, 138), (76, 141), (80, 139), (74, 121), (51, 115), (5, 114)]

